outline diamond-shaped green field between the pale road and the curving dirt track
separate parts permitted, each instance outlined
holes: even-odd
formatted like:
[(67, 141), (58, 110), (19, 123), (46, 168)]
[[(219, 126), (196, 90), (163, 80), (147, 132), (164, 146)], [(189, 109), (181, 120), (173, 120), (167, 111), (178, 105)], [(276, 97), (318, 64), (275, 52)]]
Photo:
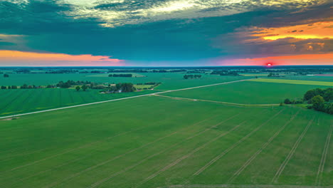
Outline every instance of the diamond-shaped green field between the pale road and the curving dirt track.
[(176, 98), (215, 100), (227, 103), (278, 104), (285, 100), (285, 98), (302, 98), (307, 90), (313, 88), (327, 88), (327, 86), (244, 81), (226, 85), (215, 85), (208, 88), (180, 90), (163, 93), (162, 95)]

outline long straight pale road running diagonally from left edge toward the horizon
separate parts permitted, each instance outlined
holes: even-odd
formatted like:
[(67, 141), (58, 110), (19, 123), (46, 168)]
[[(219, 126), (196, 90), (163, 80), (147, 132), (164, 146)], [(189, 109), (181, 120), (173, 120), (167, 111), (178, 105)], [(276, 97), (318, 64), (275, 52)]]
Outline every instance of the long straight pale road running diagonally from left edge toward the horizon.
[(251, 80), (251, 79), (255, 79), (255, 78), (249, 78), (249, 79), (244, 79), (244, 80), (235, 80), (235, 81), (230, 81), (230, 82), (225, 82), (225, 83), (214, 83), (214, 84), (210, 84), (210, 85), (201, 85), (201, 86), (196, 86), (196, 87), (191, 87), (191, 88), (166, 90), (166, 91), (161, 91), (161, 92), (157, 92), (157, 93), (149, 93), (149, 94), (144, 94), (144, 95), (135, 95), (135, 96), (127, 97), (127, 98), (117, 98), (117, 99), (112, 99), (112, 100), (103, 100), (103, 101), (98, 101), (98, 102), (94, 102), (94, 103), (85, 103), (85, 104), (81, 104), (81, 105), (73, 105), (73, 106), (66, 106), (66, 107), (61, 107), (61, 108), (53, 108), (53, 109), (41, 110), (41, 111), (36, 111), (36, 112), (31, 112), (31, 113), (8, 115), (8, 116), (0, 117), (0, 119), (9, 118), (9, 117), (17, 117), (17, 116), (22, 116), (22, 115), (31, 115), (31, 114), (36, 114), (36, 113), (46, 113), (46, 112), (51, 112), (51, 111), (55, 111), (55, 110), (63, 110), (63, 109), (67, 109), (67, 108), (76, 108), (76, 107), (86, 106), (86, 105), (95, 105), (95, 104), (100, 104), (100, 103), (108, 103), (108, 102), (117, 101), (117, 100), (126, 100), (126, 99), (129, 99), (129, 98), (139, 98), (139, 97), (144, 97), (144, 96), (149, 96), (149, 95), (159, 94), (159, 93), (170, 93), (170, 92), (179, 91), (179, 90), (191, 90), (191, 89), (196, 89), (196, 88), (210, 87), (210, 86), (214, 86), (214, 85), (224, 85), (224, 84), (228, 84), (228, 83), (237, 83), (237, 82), (243, 82), (245, 80)]

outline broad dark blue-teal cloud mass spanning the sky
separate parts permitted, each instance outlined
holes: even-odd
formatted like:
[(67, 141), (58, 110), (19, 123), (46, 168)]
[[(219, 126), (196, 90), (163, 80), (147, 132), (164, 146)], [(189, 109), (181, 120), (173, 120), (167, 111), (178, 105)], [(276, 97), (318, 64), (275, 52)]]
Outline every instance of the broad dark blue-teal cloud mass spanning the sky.
[[(105, 21), (90, 14), (79, 18), (68, 14), (77, 11), (73, 4), (36, 0), (28, 4), (1, 1), (0, 34), (23, 35), (25, 46), (14, 41), (0, 41), (0, 48), (93, 54), (128, 61), (196, 61), (217, 56), (248, 57), (333, 51), (332, 39), (282, 38), (276, 41), (244, 42), (256, 38), (242, 35), (248, 28), (311, 24), (328, 21), (332, 14), (331, 4), (317, 6), (314, 1), (308, 4), (285, 4), (287, 7), (311, 6), (307, 9), (263, 6), (257, 2), (243, 1), (226, 6), (218, 1), (200, 1), (208, 8), (195, 12), (202, 15), (212, 13), (212, 16), (189, 18), (184, 14), (185, 18), (175, 18), (171, 14), (162, 14), (163, 19), (152, 16), (147, 21), (136, 10), (164, 5), (166, 1), (103, 1), (87, 8), (88, 12), (126, 11), (126, 16), (120, 16), (117, 22), (138, 21), (137, 24), (105, 28), (102, 26)], [(242, 12), (244, 7), (250, 11), (236, 14), (237, 11)], [(235, 14), (214, 16), (216, 12), (231, 8)], [(302, 31), (295, 30), (297, 32)]]

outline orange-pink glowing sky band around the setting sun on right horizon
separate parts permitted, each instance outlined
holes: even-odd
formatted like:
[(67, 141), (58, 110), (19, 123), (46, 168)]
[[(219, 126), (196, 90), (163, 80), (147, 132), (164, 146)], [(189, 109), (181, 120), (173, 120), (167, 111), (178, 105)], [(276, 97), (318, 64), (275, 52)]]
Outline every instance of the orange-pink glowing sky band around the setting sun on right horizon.
[(273, 63), (273, 66), (332, 66), (333, 53), (304, 54), (295, 56), (271, 56), (265, 58), (238, 58), (218, 61), (218, 66), (265, 66)]

